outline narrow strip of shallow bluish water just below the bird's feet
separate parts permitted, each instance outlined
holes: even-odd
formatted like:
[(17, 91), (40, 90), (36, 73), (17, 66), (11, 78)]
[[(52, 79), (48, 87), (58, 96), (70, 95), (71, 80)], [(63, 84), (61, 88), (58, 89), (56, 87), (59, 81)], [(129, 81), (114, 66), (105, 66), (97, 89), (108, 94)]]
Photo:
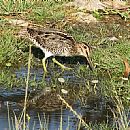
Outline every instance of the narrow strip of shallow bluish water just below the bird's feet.
[[(53, 73), (54, 71), (56, 71), (56, 73)], [(22, 67), (20, 70), (17, 70), (15, 73), (16, 73), (17, 78), (21, 78), (21, 77), (26, 78), (27, 77), (27, 68)], [(36, 81), (40, 81), (43, 78), (43, 74), (44, 74), (43, 68), (33, 68), (33, 69), (31, 69), (30, 80), (35, 79)], [(45, 77), (45, 81), (47, 81), (49, 83), (52, 80), (52, 77), (64, 78), (64, 80), (67, 81), (67, 83), (73, 83), (73, 84), (85, 84), (85, 81), (87, 80), (85, 78), (76, 76), (75, 72), (72, 72), (72, 71), (62, 72), (58, 68), (55, 68), (55, 69), (51, 68), (49, 70), (49, 74), (47, 74), (47, 76)]]

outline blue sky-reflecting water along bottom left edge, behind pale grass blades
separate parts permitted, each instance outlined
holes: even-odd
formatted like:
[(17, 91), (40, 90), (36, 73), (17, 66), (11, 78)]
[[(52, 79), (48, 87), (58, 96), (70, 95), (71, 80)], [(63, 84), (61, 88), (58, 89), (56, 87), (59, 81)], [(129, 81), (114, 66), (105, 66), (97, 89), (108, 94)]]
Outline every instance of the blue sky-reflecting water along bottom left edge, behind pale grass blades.
[[(6, 104), (7, 104), (7, 102), (1, 103), (0, 130), (9, 129), (8, 114), (7, 114), (8, 109), (7, 109)], [(16, 116), (19, 116), (21, 113), (21, 109), (18, 108), (16, 106), (16, 104), (13, 102), (12, 103), (10, 102), (9, 109), (10, 109), (10, 121), (14, 122), (13, 112), (16, 114)], [(40, 111), (36, 111), (36, 110), (29, 110), (27, 113), (30, 116), (29, 124), (27, 123), (27, 126), (30, 130), (33, 130), (33, 129), (39, 130), (42, 127), (48, 128), (49, 130), (58, 130), (58, 128), (60, 127), (61, 116), (63, 118), (63, 120), (62, 120), (63, 130), (65, 130), (68, 125), (71, 130), (76, 129), (76, 118), (68, 110), (63, 110), (62, 114), (61, 114), (61, 111), (44, 113), (44, 112), (40, 112)], [(14, 123), (13, 123), (13, 125), (14, 125)], [(11, 123), (11, 126), (12, 126), (12, 123)], [(13, 126), (12, 126), (12, 128), (13, 128)]]

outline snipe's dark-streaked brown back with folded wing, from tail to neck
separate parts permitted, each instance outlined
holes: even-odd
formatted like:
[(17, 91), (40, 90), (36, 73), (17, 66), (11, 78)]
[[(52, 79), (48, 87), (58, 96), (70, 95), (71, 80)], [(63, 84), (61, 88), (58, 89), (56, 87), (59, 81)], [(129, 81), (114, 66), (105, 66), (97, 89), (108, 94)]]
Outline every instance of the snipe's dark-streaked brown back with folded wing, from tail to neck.
[(37, 42), (36, 46), (45, 48), (55, 55), (70, 56), (76, 51), (75, 40), (66, 33), (32, 28), (27, 28), (27, 31), (30, 38)]

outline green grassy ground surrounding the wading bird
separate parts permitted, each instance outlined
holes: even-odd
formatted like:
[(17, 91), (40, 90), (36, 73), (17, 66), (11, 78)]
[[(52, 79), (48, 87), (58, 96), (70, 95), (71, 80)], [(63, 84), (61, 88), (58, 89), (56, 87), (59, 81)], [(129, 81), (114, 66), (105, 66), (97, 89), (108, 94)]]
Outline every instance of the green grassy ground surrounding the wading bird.
[[(35, 78), (29, 80), (28, 77), (27, 82), (25, 77), (21, 79), (16, 77), (15, 70), (23, 66), (27, 67), (28, 65), (28, 59), (30, 58), (28, 56), (29, 43), (16, 37), (16, 33), (20, 30), (20, 27), (9, 24), (9, 19), (25, 20), (32, 24), (41, 25), (42, 27), (51, 27), (68, 32), (76, 41), (86, 42), (92, 46), (91, 59), (96, 66), (94, 72), (91, 72), (85, 65), (79, 65), (78, 67), (74, 67), (72, 73), (76, 77), (83, 79), (99, 80), (99, 85), (95, 84), (94, 91), (91, 90), (91, 84), (88, 82), (85, 83), (86, 93), (94, 93), (96, 95), (100, 91), (102, 96), (111, 98), (117, 107), (117, 113), (114, 113), (115, 117), (119, 116), (122, 121), (122, 125), (120, 121), (118, 121), (118, 125), (122, 130), (127, 130), (127, 117), (122, 111), (128, 109), (130, 105), (130, 83), (129, 80), (124, 81), (122, 77), (124, 72), (123, 60), (128, 59), (130, 63), (129, 12), (120, 13), (117, 10), (115, 11), (125, 21), (121, 17), (109, 16), (109, 13), (109, 18), (107, 19), (105, 17), (106, 14), (93, 12), (93, 15), (100, 19), (98, 23), (90, 23), (88, 25), (86, 23), (75, 22), (73, 24), (72, 21), (67, 20), (66, 16), (68, 14), (66, 9), (68, 8), (64, 7), (64, 3), (30, 0), (17, 1), (14, 4), (12, 0), (7, 0), (6, 2), (4, 0), (0, 1), (0, 86), (1, 88), (19, 86), (42, 88), (47, 86), (44, 78), (41, 81), (36, 81)], [(31, 68), (41, 68), (41, 60), (38, 61), (37, 58), (32, 56), (30, 66)], [(54, 68), (52, 63), (51, 67)], [(67, 86), (67, 81), (60, 85), (57, 81), (57, 78), (59, 76), (62, 77), (64, 73), (59, 74), (54, 69), (53, 71), (54, 75), (51, 78), (51, 87), (61, 86), (62, 88), (65, 85)], [(85, 97), (84, 90), (81, 89), (78, 96), (79, 98), (80, 96)], [(24, 112), (26, 115), (26, 110)], [(92, 126), (90, 125), (90, 127)], [(94, 125), (94, 129), (114, 130), (115, 128), (114, 126), (110, 128), (108, 124), (101, 124)]]

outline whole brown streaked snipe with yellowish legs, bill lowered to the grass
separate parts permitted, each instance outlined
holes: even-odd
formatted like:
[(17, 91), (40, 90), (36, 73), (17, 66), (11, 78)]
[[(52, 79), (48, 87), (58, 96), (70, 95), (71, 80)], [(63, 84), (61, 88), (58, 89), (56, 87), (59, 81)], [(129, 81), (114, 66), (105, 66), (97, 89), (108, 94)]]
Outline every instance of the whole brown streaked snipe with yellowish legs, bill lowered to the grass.
[[(45, 61), (51, 56), (84, 56), (90, 69), (93, 70), (92, 62), (89, 58), (90, 49), (88, 45), (76, 43), (72, 36), (59, 31), (40, 30), (29, 27), (26, 31), (27, 38), (45, 53), (45, 57), (42, 59), (45, 72), (47, 72)], [(21, 36), (23, 36), (23, 33)], [(67, 67), (59, 63), (55, 58), (52, 58), (52, 60), (63, 69), (67, 69)]]

